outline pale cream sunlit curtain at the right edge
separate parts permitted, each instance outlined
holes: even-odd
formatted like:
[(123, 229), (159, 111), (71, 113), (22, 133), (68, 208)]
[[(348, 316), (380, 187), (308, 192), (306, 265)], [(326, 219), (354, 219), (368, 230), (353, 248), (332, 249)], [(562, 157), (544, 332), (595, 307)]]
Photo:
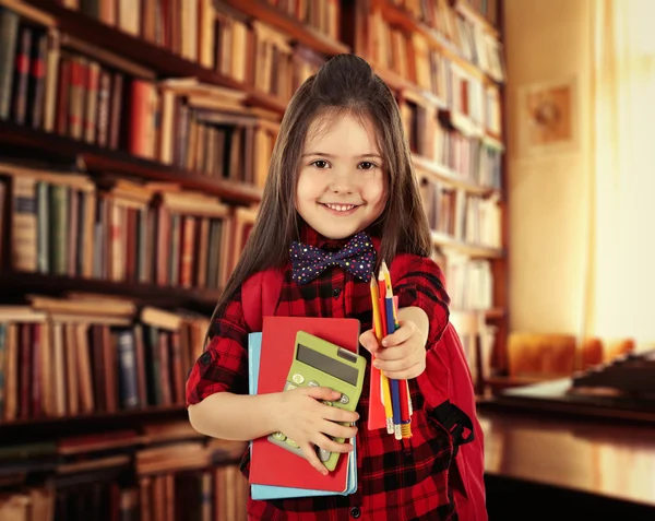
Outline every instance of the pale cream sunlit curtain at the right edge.
[(584, 333), (655, 345), (654, 0), (592, 0), (594, 118)]

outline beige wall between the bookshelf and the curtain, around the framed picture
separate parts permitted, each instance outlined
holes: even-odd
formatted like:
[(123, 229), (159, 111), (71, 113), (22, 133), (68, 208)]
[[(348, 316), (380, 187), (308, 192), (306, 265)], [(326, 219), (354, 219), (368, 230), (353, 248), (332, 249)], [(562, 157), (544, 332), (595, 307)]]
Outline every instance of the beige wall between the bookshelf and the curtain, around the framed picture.
[[(511, 331), (576, 334), (586, 276), (593, 0), (504, 0)], [(526, 156), (522, 87), (574, 78), (579, 140)]]

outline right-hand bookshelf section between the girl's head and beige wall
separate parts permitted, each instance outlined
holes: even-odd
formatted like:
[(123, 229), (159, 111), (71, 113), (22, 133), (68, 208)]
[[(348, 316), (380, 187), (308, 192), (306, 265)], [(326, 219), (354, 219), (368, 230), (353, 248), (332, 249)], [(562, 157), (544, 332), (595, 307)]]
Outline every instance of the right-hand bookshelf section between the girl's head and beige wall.
[[(483, 14), (481, 9), (490, 12)], [(434, 186), (438, 193), (456, 193), (453, 201), (466, 201), (465, 206), (473, 201), (496, 214), (492, 236), (477, 236), (453, 223), (445, 224), (448, 230), (439, 226), (432, 230), (434, 258), (444, 268), (453, 310), (481, 312), (493, 331), (491, 367), (485, 368), (488, 377), (505, 370), (510, 315), (504, 59), (502, 28), (495, 23), (501, 20), (500, 9), (500, 1), (436, 0), (416, 4), (371, 0), (353, 8), (352, 25), (358, 33), (346, 40), (355, 52), (374, 64), (378, 74), (394, 91), (406, 118), (405, 130), (421, 187)], [(457, 94), (462, 90), (466, 91), (466, 99)], [(420, 135), (413, 135), (416, 129)], [(489, 165), (462, 159), (483, 152), (487, 159), (492, 157), (491, 177), (483, 175)], [(425, 194), (430, 217), (429, 208), (437, 203), (434, 196)], [(443, 205), (446, 200), (440, 201)], [(443, 217), (439, 214), (429, 220), (442, 223), (443, 227), (448, 221)], [(472, 279), (466, 275), (468, 263), (474, 270), (486, 263), (483, 272), (491, 281), (491, 295), (483, 298), (487, 303), (485, 308), (480, 308), (479, 301), (467, 304), (460, 298), (465, 293), (461, 281)]]

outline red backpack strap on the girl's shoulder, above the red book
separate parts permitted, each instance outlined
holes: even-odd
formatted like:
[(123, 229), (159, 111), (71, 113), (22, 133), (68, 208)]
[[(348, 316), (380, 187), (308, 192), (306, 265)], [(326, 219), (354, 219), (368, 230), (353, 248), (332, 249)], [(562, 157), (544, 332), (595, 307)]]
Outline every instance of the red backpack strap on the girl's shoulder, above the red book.
[(243, 319), (251, 332), (262, 330), (263, 317), (275, 315), (283, 280), (283, 269), (269, 268), (257, 272), (243, 282), (241, 307)]

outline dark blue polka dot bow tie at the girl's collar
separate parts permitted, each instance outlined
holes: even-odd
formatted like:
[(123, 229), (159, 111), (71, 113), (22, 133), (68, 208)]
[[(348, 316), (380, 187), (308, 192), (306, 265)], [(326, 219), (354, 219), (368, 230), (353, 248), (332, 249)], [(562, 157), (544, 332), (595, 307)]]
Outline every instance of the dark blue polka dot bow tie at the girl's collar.
[(331, 265), (341, 265), (355, 276), (369, 281), (376, 263), (373, 242), (364, 232), (357, 234), (346, 246), (335, 252), (294, 241), (290, 253), (294, 281), (298, 284), (307, 284)]

